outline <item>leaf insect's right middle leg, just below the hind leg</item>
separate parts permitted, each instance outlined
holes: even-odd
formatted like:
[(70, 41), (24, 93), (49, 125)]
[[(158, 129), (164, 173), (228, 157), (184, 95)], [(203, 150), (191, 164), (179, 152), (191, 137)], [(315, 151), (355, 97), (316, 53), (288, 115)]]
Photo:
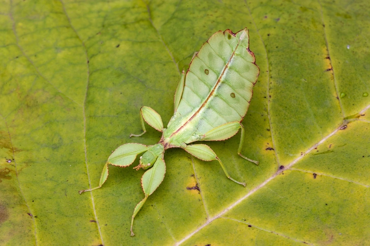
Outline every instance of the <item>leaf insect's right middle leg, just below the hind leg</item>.
[(243, 182), (238, 182), (234, 180), (233, 178), (230, 177), (229, 173), (227, 172), (224, 164), (222, 164), (222, 161), (220, 158), (213, 152), (213, 150), (207, 146), (207, 145), (188, 145), (187, 147), (184, 148), (186, 152), (189, 154), (197, 157), (198, 159), (201, 159), (203, 161), (213, 161), (213, 160), (218, 160), (222, 169), (224, 170), (226, 177), (229, 178), (230, 180), (234, 181), (235, 183), (242, 185), (245, 187), (245, 183)]

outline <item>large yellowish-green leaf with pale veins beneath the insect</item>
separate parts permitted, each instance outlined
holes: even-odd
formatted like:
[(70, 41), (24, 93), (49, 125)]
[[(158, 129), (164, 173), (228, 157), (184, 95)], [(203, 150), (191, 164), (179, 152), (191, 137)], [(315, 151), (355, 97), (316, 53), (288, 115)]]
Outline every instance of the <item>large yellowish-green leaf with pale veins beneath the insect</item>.
[[(1, 244), (370, 244), (368, 9), (364, 0), (2, 1)], [(129, 138), (142, 129), (140, 108), (166, 125), (194, 52), (215, 31), (245, 27), (261, 73), (241, 153), (260, 164), (237, 155), (240, 133), (204, 144), (246, 188), (217, 161), (167, 150), (166, 177), (131, 237), (144, 170), (110, 166), (102, 188), (78, 191), (99, 184), (117, 147), (156, 144), (150, 127)]]

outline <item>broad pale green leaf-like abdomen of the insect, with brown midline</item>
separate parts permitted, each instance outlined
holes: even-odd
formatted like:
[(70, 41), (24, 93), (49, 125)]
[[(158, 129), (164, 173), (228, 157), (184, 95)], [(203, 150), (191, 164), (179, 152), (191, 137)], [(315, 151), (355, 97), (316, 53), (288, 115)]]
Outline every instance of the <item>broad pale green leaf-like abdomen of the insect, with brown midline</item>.
[(193, 58), (177, 112), (189, 121), (199, 117), (197, 132), (205, 133), (248, 110), (259, 75), (249, 50), (248, 29), (214, 33)]

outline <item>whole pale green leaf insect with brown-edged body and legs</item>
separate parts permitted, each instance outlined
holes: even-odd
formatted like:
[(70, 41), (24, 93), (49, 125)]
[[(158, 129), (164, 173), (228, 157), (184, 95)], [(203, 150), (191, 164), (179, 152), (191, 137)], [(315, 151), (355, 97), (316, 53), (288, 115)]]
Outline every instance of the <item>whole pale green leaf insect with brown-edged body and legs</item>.
[(134, 167), (136, 170), (148, 169), (141, 178), (145, 197), (136, 205), (131, 219), (131, 236), (134, 236), (132, 228), (135, 216), (164, 179), (166, 165), (163, 155), (169, 148), (182, 148), (203, 161), (217, 160), (227, 178), (245, 187), (245, 183), (230, 177), (222, 161), (210, 147), (189, 144), (196, 141), (225, 140), (241, 129), (237, 153), (258, 164), (241, 154), (244, 127), (240, 123), (248, 110), (258, 75), (255, 56), (249, 49), (248, 29), (244, 28), (236, 33), (229, 29), (215, 32), (193, 56), (186, 74), (182, 71), (174, 96), (174, 115), (167, 128), (163, 127), (162, 118), (156, 111), (149, 107), (140, 109), (143, 132), (130, 134), (130, 137), (138, 137), (146, 132), (145, 121), (149, 126), (163, 132), (159, 143), (152, 146), (134, 143), (119, 146), (105, 163), (99, 186), (79, 193), (102, 187), (108, 178), (109, 164), (127, 167), (135, 161), (138, 154), (145, 152), (140, 156), (139, 165)]

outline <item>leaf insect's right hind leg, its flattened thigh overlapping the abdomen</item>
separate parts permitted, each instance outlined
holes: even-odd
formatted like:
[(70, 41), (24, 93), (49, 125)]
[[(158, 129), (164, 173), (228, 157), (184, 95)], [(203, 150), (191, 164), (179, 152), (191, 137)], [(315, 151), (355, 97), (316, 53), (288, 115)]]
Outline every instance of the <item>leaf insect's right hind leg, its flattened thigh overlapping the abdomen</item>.
[(255, 163), (258, 165), (258, 161), (249, 159), (241, 154), (241, 149), (243, 148), (243, 142), (244, 142), (244, 126), (238, 122), (229, 122), (226, 124), (223, 124), (221, 126), (218, 126), (208, 132), (206, 132), (200, 140), (205, 140), (205, 141), (220, 141), (220, 140), (225, 140), (233, 135), (235, 135), (238, 130), (241, 129), (241, 134), (240, 134), (240, 143), (239, 143), (239, 148), (238, 148), (238, 155), (243, 157), (245, 160), (248, 160), (250, 162)]

